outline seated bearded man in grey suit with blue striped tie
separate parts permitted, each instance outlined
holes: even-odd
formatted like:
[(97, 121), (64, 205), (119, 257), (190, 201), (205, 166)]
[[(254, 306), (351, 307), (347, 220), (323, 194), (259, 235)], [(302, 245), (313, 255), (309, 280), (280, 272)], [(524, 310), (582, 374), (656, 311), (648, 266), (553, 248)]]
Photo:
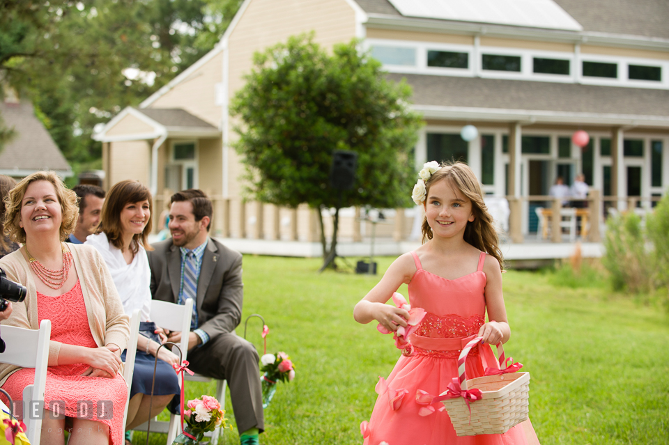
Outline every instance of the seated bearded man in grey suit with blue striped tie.
[[(258, 352), (236, 336), (242, 315), (242, 256), (209, 237), (213, 213), (201, 190), (171, 197), (171, 239), (148, 252), (153, 299), (195, 302), (188, 333), (188, 368), (229, 383), (233, 412), (242, 445), (258, 444), (263, 432), (263, 400)], [(179, 343), (180, 332), (167, 332)]]

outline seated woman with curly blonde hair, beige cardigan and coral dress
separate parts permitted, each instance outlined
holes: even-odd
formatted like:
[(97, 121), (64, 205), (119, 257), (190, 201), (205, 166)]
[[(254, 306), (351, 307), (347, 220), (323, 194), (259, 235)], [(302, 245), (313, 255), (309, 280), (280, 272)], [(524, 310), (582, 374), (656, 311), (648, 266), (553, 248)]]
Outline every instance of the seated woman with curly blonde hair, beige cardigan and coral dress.
[[(52, 321), (42, 420), (43, 444), (123, 442), (128, 389), (121, 351), (130, 334), (112, 276), (100, 253), (63, 242), (77, 224), (77, 195), (53, 172), (38, 171), (9, 193), (5, 233), (21, 249), (0, 259), (8, 279), (26, 286), (6, 325), (38, 329)], [(22, 400), (35, 370), (0, 364), (0, 384)], [(82, 400), (94, 409), (82, 409)]]

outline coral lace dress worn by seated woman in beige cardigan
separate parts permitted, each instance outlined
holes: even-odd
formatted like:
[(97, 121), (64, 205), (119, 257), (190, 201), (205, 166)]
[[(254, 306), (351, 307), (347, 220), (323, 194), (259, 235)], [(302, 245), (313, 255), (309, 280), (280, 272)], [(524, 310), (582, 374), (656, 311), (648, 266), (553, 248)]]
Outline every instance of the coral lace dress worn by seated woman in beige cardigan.
[[(52, 340), (98, 348), (89, 327), (79, 281), (69, 292), (59, 297), (50, 297), (40, 292), (37, 292), (37, 297), (38, 322), (43, 319), (51, 320)], [(105, 423), (109, 426), (111, 443), (123, 444), (123, 413), (128, 395), (125, 380), (121, 373), (116, 374), (113, 379), (82, 376), (88, 368), (86, 364), (49, 366), (45, 407), (52, 412), (64, 412), (68, 417), (82, 417)], [(34, 378), (34, 368), (17, 370), (8, 377), (3, 389), (15, 402), (22, 400), (23, 389), (33, 384)]]

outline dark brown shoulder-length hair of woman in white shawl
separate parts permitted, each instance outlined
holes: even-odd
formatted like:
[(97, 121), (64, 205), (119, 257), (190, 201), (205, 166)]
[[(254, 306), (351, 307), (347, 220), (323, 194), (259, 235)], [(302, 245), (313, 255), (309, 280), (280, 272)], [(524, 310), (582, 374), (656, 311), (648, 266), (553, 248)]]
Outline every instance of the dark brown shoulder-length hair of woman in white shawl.
[(107, 192), (105, 204), (102, 205), (102, 214), (100, 214), (100, 225), (95, 233), (105, 233), (107, 240), (112, 243), (116, 249), (123, 250), (123, 226), (121, 226), (121, 212), (128, 203), (137, 203), (139, 201), (148, 201), (148, 210), (151, 212), (144, 231), (132, 236), (130, 249), (132, 253), (139, 251), (139, 244), (146, 250), (153, 250), (148, 244), (148, 234), (151, 233), (153, 221), (153, 200), (151, 192), (139, 181), (124, 180), (116, 182)]

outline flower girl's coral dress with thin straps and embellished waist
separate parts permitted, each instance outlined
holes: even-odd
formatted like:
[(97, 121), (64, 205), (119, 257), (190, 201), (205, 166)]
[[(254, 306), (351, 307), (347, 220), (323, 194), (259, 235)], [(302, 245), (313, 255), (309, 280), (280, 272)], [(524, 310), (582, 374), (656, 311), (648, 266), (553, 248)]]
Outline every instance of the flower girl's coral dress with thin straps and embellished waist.
[[(421, 416), (416, 392), (419, 389), (438, 396), (446, 391), (453, 377), (458, 376), (458, 356), (468, 341), (478, 334), (485, 322), (484, 291), (486, 274), (484, 252), (479, 256), (476, 272), (448, 280), (422, 269), (420, 260), (412, 252), (417, 272), (409, 283), (411, 307), (420, 307), (427, 314), (419, 329), (410, 337), (414, 354), (403, 355), (387, 379), (390, 389), (406, 390), (399, 408), (392, 409), (389, 394), (380, 392), (371, 414), (364, 445), (525, 445), (538, 443), (531, 424), (517, 425), (502, 435), (458, 437), (443, 406), (435, 403), (432, 414)], [(476, 346), (468, 355), (467, 377), (480, 377), (486, 366), (495, 367), (495, 357), (489, 345)], [(498, 367), (499, 365), (497, 365)], [(393, 394), (397, 394), (392, 391)], [(397, 407), (397, 400), (395, 402)], [(423, 412), (425, 414), (425, 412)], [(526, 431), (527, 430), (527, 431)]]

